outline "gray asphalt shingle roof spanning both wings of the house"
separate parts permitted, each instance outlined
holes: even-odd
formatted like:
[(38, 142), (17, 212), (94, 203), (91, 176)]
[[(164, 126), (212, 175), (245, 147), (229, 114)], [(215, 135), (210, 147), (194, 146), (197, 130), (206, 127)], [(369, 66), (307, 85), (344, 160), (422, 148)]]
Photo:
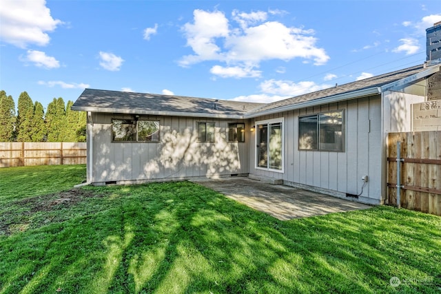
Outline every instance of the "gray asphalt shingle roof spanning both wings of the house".
[[(433, 67), (436, 66), (440, 67), (440, 65), (434, 65)], [(319, 102), (319, 99), (321, 98), (382, 87), (414, 74), (424, 72), (424, 70), (427, 70), (427, 67), (424, 67), (424, 65), (417, 65), (267, 104), (187, 96), (86, 89), (75, 101), (72, 109), (92, 112), (201, 116), (214, 118), (256, 117), (263, 112), (277, 112), (278, 109), (282, 108), (286, 110), (286, 107), (295, 106), (298, 103), (315, 100)]]

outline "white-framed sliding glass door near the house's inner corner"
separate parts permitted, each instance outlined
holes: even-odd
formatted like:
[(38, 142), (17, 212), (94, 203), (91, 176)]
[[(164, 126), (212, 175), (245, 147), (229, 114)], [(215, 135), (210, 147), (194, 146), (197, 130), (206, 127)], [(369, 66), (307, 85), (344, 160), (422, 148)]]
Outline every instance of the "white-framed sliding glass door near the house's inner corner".
[(256, 122), (256, 168), (283, 172), (283, 118)]

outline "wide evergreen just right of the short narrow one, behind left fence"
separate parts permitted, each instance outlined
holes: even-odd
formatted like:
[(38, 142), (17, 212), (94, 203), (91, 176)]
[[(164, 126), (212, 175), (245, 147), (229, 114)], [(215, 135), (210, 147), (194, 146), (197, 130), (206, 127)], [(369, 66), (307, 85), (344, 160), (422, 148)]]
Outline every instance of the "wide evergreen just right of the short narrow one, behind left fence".
[(48, 142), (63, 142), (67, 127), (65, 126), (65, 104), (63, 98), (54, 98), (46, 111)]

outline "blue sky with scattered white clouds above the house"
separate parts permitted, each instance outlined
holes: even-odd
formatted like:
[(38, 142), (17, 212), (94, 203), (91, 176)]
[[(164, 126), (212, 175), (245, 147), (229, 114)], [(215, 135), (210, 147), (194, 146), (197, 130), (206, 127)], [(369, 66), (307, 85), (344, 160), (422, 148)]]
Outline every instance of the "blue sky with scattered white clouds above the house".
[(0, 0), (0, 89), (271, 102), (421, 64), (440, 1)]

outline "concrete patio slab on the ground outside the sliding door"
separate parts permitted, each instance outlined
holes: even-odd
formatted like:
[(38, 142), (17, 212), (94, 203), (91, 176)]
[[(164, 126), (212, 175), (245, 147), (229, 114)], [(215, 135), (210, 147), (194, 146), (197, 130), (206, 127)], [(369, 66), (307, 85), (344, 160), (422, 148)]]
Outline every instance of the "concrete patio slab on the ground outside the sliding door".
[(200, 185), (268, 213), (279, 220), (369, 209), (371, 206), (284, 185), (269, 185), (245, 177), (195, 179)]

